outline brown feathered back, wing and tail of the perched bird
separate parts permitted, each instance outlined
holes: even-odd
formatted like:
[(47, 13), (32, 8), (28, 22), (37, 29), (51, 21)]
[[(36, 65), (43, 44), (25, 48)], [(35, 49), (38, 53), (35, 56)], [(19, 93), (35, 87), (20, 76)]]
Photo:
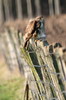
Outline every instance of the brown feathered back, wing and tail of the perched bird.
[(39, 21), (43, 19), (43, 16), (38, 16), (32, 20), (29, 21), (26, 29), (25, 29), (25, 33), (24, 33), (24, 48), (27, 46), (28, 41), (33, 37), (36, 38), (37, 37), (37, 30), (40, 27)]

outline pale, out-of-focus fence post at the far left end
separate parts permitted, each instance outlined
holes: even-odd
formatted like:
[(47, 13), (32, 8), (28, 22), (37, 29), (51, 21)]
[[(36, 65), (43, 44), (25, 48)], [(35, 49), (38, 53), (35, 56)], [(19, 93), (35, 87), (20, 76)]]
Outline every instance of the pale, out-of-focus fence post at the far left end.
[[(15, 54), (15, 50), (11, 41), (11, 37), (9, 36), (9, 29), (5, 28), (5, 32), (4, 32), (4, 45), (5, 45), (5, 49), (7, 50), (7, 60), (9, 63), (9, 66), (11, 69), (14, 69), (13, 66), (17, 66), (17, 59), (16, 59), (16, 54)], [(6, 52), (5, 52), (6, 53)]]

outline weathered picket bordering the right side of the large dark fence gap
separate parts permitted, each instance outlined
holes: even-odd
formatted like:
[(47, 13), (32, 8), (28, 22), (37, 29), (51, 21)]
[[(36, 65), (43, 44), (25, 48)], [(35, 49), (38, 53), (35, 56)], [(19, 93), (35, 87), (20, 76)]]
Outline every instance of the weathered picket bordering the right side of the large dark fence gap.
[(45, 57), (43, 56), (42, 48), (40, 48), (40, 47), (37, 48), (36, 55), (37, 55), (39, 64), (41, 66), (41, 72), (42, 72), (42, 76), (43, 76), (42, 81), (44, 82), (43, 84), (44, 84), (46, 97), (47, 97), (47, 100), (49, 100), (49, 98), (53, 97), (53, 94), (52, 94), (52, 90), (51, 90), (51, 85), (49, 84), (50, 78), (49, 78), (49, 75), (48, 75), (48, 72), (47, 72), (47, 69), (46, 69), (47, 64), (45, 64), (45, 62), (43, 61), (45, 59)]

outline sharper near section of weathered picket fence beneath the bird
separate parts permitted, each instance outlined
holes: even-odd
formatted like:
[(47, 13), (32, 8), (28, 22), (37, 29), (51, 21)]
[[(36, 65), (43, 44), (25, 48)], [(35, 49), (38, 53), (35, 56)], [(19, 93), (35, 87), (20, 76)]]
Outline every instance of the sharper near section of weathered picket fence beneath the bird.
[(66, 100), (63, 48), (59, 43), (54, 46), (45, 43), (30, 45), (28, 50), (21, 48), (32, 74), (27, 77), (24, 100)]

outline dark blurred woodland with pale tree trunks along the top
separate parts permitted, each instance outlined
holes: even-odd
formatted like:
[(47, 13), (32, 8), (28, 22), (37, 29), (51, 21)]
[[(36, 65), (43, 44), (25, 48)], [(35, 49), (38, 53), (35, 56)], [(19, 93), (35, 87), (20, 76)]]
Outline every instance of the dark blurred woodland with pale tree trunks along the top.
[(66, 13), (66, 0), (0, 0), (0, 23), (9, 19)]

